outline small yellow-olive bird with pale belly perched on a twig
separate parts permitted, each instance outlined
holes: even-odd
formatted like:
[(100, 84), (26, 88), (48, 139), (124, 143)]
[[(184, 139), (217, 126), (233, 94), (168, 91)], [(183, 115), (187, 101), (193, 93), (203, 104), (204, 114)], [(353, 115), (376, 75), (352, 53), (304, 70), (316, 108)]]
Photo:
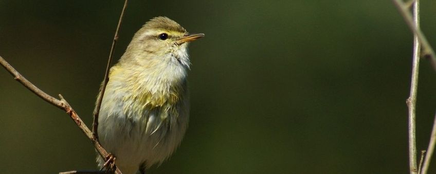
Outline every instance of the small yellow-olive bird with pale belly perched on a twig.
[[(188, 43), (203, 36), (189, 34), (168, 17), (155, 17), (111, 68), (98, 135), (123, 174), (143, 173), (180, 144), (189, 119)], [(97, 162), (105, 161), (97, 157)]]

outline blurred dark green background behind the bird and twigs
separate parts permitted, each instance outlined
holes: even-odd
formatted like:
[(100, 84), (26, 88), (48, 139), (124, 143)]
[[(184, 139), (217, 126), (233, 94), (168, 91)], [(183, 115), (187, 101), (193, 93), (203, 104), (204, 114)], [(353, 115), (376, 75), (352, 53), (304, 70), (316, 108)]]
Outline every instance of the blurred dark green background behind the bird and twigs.
[[(0, 55), (90, 125), (122, 4), (2, 0)], [(436, 46), (436, 2), (421, 6)], [(190, 46), (186, 137), (148, 173), (408, 173), (412, 35), (391, 1), (131, 1), (115, 59), (161, 15), (206, 37)], [(422, 59), (418, 150), (434, 118), (435, 77)], [(5, 70), (0, 168), (96, 168), (92, 144), (65, 112)]]

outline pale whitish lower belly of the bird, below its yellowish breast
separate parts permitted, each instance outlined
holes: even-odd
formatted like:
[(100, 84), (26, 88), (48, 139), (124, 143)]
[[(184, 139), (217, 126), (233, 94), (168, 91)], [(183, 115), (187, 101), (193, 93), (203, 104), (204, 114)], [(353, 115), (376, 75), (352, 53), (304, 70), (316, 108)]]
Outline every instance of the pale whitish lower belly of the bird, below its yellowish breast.
[(115, 164), (123, 173), (135, 173), (139, 168), (161, 163), (173, 153), (188, 124), (188, 113), (177, 108), (175, 113), (143, 111), (139, 117), (100, 114), (100, 142), (117, 158)]

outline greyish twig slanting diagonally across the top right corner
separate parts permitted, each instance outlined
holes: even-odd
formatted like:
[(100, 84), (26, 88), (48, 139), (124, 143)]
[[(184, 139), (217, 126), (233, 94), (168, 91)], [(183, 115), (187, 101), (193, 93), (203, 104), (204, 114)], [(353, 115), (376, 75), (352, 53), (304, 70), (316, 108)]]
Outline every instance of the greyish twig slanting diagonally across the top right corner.
[(423, 55), (427, 58), (430, 58), (431, 65), (433, 66), (433, 69), (436, 71), (436, 54), (434, 53), (434, 50), (431, 48), (429, 42), (427, 41), (427, 38), (425, 37), (421, 29), (419, 27), (415, 27), (415, 22), (413, 20), (412, 15), (409, 12), (407, 4), (403, 3), (401, 0), (392, 0), (392, 1), (398, 8), (401, 15), (403, 16), (410, 30), (412, 30), (414, 35), (421, 42), (422, 47), (424, 48)]

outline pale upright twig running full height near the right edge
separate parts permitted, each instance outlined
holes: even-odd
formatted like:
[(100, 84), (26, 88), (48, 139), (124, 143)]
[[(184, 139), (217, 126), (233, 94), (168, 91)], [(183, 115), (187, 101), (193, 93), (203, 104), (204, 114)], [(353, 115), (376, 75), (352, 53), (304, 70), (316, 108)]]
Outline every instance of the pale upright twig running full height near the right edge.
[[(413, 4), (414, 28), (420, 28), (419, 0)], [(411, 174), (417, 174), (416, 165), (416, 93), (420, 68), (420, 42), (416, 34), (413, 35), (412, 79), (410, 82), (410, 96), (406, 100), (409, 107), (409, 169)]]

